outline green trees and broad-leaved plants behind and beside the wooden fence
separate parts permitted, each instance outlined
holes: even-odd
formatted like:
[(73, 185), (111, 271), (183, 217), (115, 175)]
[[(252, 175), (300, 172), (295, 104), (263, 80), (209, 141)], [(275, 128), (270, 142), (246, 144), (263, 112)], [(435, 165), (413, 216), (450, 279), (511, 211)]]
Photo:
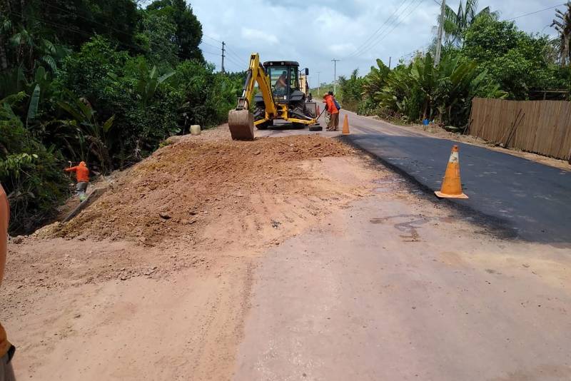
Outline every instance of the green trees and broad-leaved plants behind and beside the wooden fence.
[(545, 91), (556, 90), (559, 99), (570, 99), (571, 2), (555, 15), (552, 26), (560, 33), (555, 40), (527, 34), (489, 8), (476, 8), (477, 1), (468, 1), (458, 11), (447, 9), (438, 66), (434, 41), (395, 68), (379, 59), (365, 76), (355, 70), (338, 78), (343, 107), (396, 123), (428, 119), (462, 130), (474, 97), (543, 99)]

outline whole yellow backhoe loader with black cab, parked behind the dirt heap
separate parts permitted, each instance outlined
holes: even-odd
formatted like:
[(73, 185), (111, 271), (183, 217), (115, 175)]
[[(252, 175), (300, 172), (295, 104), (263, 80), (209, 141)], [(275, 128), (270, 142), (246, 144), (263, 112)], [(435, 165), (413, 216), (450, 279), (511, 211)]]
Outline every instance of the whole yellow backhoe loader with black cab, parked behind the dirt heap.
[[(260, 56), (250, 56), (250, 67), (243, 93), (236, 110), (228, 113), (228, 126), (234, 140), (253, 141), (254, 126), (264, 130), (273, 121), (283, 120), (294, 126), (310, 126), (317, 131), (316, 103), (306, 102), (300, 91), (299, 64), (295, 61), (268, 61), (263, 65)], [(305, 69), (305, 76), (309, 71)], [(254, 96), (258, 83), (259, 92)], [(253, 99), (253, 105), (250, 102)], [(253, 111), (253, 113), (251, 112)]]

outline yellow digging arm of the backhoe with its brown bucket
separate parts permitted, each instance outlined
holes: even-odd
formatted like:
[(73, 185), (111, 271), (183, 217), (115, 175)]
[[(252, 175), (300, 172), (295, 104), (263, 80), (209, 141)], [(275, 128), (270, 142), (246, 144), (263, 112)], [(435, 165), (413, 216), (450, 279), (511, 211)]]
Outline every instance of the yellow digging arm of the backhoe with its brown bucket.
[(276, 102), (273, 100), (270, 77), (260, 64), (260, 56), (253, 53), (250, 56), (250, 67), (246, 76), (246, 83), (242, 91), (242, 96), (238, 98), (236, 110), (228, 113), (228, 127), (234, 140), (254, 140), (253, 115), (250, 112), (250, 101), (254, 95), (254, 87), (258, 83), (258, 88), (266, 106), (266, 118), (264, 121), (273, 119), (278, 113)]

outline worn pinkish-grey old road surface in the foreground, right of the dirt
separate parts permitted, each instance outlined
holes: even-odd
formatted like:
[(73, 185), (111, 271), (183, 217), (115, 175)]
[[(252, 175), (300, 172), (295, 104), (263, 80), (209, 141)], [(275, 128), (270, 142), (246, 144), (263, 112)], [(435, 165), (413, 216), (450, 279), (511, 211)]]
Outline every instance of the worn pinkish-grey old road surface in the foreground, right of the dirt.
[(393, 191), (264, 256), (234, 381), (571, 380), (571, 250)]

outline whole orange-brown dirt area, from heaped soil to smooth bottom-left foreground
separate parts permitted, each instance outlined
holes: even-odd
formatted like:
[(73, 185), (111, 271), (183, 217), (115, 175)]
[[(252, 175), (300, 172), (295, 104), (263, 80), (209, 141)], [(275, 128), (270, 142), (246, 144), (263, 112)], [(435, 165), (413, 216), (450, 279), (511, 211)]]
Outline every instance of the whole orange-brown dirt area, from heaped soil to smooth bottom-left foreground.
[(369, 194), (370, 176), (319, 135), (176, 139), (74, 220), (9, 245), (0, 320), (19, 377), (224, 379), (259, 255)]

